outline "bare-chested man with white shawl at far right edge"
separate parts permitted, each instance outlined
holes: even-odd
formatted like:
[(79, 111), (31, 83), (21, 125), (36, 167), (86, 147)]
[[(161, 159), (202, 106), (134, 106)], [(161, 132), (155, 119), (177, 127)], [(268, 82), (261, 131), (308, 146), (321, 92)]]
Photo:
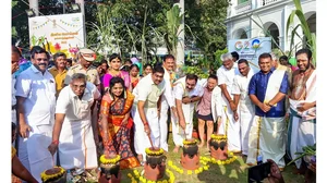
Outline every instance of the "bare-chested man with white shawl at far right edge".
[[(316, 71), (312, 65), (312, 52), (301, 49), (295, 53), (299, 70), (294, 71), (290, 96), (290, 123), (288, 151), (292, 159), (303, 147), (316, 144)], [(295, 161), (300, 169), (302, 159)], [(303, 166), (304, 167), (304, 166)]]

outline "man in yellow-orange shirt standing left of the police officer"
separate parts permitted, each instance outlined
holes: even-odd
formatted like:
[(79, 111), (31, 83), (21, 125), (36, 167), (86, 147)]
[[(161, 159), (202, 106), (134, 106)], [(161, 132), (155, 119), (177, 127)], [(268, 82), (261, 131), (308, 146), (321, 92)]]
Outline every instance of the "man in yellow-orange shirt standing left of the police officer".
[(53, 56), (55, 66), (49, 69), (56, 81), (56, 97), (59, 96), (60, 90), (63, 88), (63, 82), (66, 75), (66, 56), (63, 52), (57, 52)]

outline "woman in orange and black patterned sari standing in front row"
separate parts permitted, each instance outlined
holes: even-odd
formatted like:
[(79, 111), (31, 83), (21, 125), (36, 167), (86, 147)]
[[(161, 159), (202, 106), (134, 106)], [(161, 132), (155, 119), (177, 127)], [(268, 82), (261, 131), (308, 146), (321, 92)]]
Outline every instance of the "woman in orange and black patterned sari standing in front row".
[(120, 168), (138, 167), (140, 162), (131, 150), (131, 127), (133, 120), (130, 115), (134, 96), (124, 87), (121, 77), (110, 80), (110, 88), (101, 101), (99, 130), (104, 142), (105, 155), (121, 156)]

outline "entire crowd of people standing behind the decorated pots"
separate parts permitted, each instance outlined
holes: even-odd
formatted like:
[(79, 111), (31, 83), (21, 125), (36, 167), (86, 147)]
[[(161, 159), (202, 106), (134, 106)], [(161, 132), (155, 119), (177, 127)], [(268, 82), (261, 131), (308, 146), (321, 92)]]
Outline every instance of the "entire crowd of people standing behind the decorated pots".
[[(192, 138), (194, 115), (199, 147), (209, 150), (211, 134), (223, 134), (228, 150), (247, 157), (250, 166), (262, 156), (282, 171), (286, 155), (295, 159), (316, 143), (316, 71), (308, 49), (295, 53), (295, 69), (287, 57), (263, 53), (256, 73), (237, 52), (225, 53), (208, 78), (177, 75), (171, 54), (155, 66), (123, 64), (117, 53), (94, 64), (95, 52), (83, 48), (68, 66), (64, 53), (34, 47), (31, 66), (16, 74), (21, 57), (12, 47), (12, 123), (19, 126), (12, 157), (24, 176), (14, 166), (13, 174), (27, 182), (41, 182), (40, 173), (53, 164), (97, 169), (101, 154), (120, 155), (128, 169), (145, 163), (148, 147), (179, 152)], [(50, 58), (55, 65), (48, 69)], [(170, 122), (173, 149), (167, 143)]]

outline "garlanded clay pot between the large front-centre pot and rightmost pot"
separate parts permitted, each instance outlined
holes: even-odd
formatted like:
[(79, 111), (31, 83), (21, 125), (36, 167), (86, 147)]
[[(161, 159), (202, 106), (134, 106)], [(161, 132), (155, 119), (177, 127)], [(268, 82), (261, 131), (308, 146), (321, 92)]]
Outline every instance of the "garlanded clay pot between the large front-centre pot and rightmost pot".
[(185, 139), (183, 142), (181, 164), (186, 170), (195, 170), (199, 168), (199, 154), (196, 139)]

